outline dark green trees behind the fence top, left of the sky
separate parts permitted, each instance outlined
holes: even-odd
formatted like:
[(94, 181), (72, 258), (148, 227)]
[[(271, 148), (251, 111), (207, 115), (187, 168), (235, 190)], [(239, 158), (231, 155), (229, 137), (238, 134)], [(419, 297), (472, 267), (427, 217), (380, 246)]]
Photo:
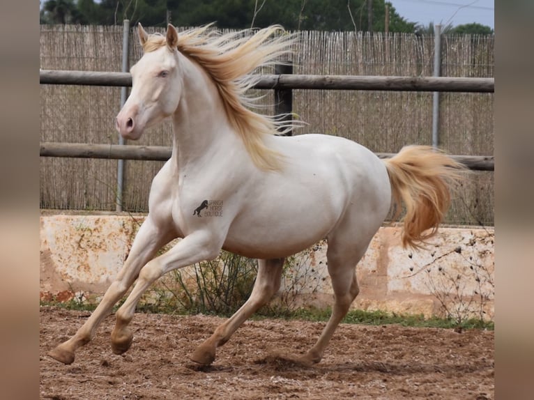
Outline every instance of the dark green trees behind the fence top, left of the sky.
[[(413, 32), (388, 3), (390, 32)], [(385, 30), (386, 3), (373, 1), (373, 31)], [(41, 24), (121, 24), (165, 26), (215, 22), (220, 29), (262, 28), (280, 24), (289, 31), (368, 31), (367, 0), (46, 0)]]

